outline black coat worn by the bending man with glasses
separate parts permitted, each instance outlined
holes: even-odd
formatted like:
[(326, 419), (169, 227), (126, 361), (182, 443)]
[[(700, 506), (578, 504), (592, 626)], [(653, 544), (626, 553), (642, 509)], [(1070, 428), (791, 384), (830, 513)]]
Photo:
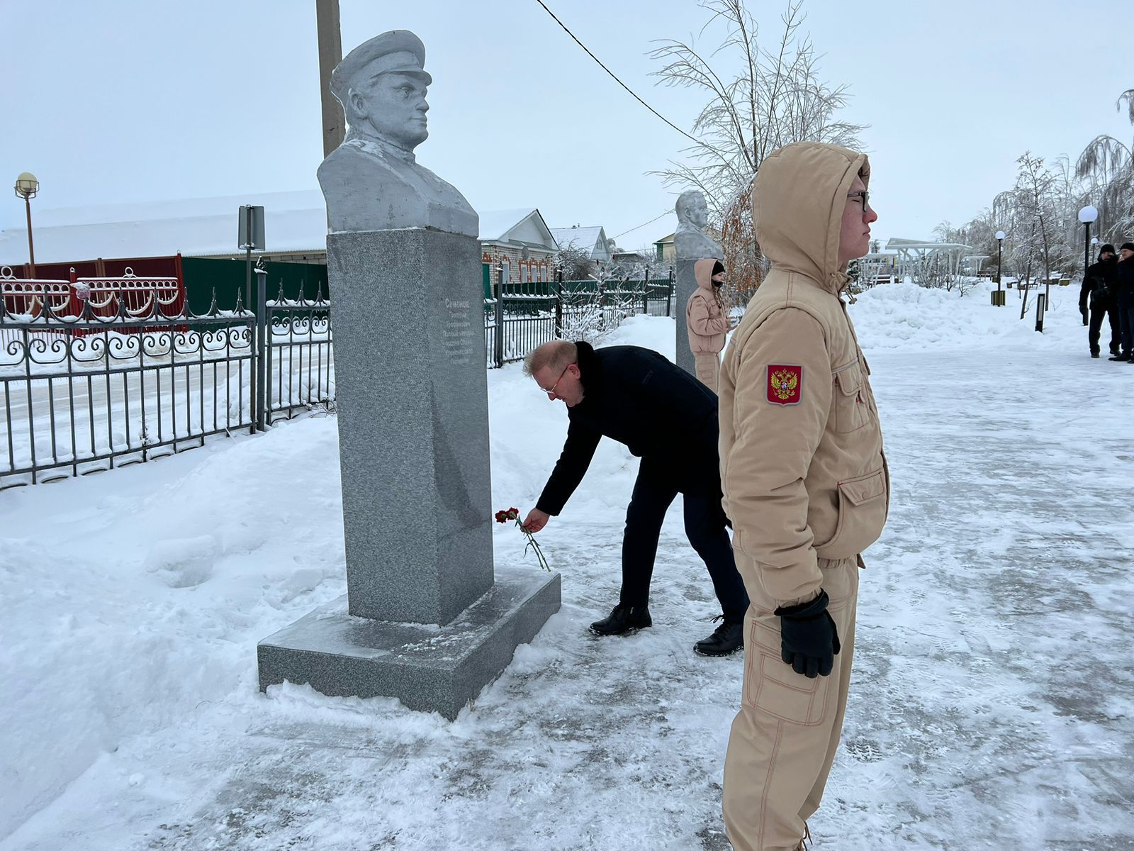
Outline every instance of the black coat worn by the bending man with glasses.
[(682, 490), (719, 489), (717, 394), (653, 349), (575, 345), (583, 401), (567, 408), (567, 440), (535, 507), (562, 511), (602, 437), (663, 458)]

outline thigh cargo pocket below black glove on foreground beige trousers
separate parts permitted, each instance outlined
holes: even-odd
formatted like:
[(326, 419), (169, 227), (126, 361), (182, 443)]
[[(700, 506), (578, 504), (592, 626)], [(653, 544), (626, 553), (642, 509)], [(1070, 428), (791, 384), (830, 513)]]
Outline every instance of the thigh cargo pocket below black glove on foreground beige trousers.
[[(748, 633), (744, 702), (773, 718), (803, 726), (822, 724), (831, 711), (831, 676), (797, 674), (780, 655), (778, 630), (753, 622)], [(836, 657), (836, 669), (838, 657)]]

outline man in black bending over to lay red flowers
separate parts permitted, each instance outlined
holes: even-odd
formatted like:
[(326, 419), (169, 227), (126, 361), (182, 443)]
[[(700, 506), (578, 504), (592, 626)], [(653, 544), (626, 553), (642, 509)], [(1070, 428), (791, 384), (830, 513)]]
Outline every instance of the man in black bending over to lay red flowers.
[(567, 441), (524, 526), (538, 532), (562, 511), (586, 473), (603, 436), (642, 458), (626, 509), (623, 589), (608, 617), (591, 624), (599, 635), (650, 626), (650, 576), (666, 511), (685, 497), (685, 533), (704, 561), (722, 622), (696, 644), (703, 656), (725, 656), (743, 643), (748, 595), (733, 561), (721, 508), (717, 395), (657, 352), (638, 346), (594, 349), (555, 340), (524, 361), (552, 401), (567, 405)]

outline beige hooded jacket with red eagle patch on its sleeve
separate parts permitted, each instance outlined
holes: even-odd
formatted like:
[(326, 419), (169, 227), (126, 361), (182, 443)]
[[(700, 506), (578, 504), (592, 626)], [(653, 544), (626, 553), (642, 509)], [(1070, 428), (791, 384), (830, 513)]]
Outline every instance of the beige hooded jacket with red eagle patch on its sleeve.
[(780, 605), (812, 599), (819, 558), (882, 532), (889, 471), (870, 368), (839, 297), (838, 248), (866, 157), (819, 143), (763, 161), (753, 221), (772, 269), (733, 334), (720, 377), (720, 463), (736, 566)]

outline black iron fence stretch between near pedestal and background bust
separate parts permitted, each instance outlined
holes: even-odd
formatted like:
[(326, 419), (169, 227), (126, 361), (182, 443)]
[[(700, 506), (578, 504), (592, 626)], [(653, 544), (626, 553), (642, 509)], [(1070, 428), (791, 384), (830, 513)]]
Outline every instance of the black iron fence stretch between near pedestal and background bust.
[[(508, 269), (497, 269), (500, 281)], [(490, 368), (522, 360), (553, 339), (592, 339), (635, 313), (674, 315), (674, 272), (665, 278), (524, 281), (493, 286), (484, 300), (484, 348)]]

